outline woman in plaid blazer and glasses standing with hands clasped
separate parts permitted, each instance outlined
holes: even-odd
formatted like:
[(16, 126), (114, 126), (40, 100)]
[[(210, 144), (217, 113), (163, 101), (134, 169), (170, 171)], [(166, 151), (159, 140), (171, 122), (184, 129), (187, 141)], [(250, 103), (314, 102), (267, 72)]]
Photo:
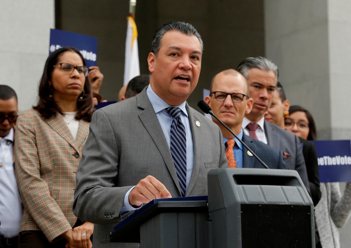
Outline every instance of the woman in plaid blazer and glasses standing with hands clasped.
[(16, 179), (25, 208), (21, 248), (92, 247), (94, 224), (72, 212), (75, 172), (93, 113), (87, 74), (79, 50), (54, 51), (39, 82), (38, 104), (17, 119)]

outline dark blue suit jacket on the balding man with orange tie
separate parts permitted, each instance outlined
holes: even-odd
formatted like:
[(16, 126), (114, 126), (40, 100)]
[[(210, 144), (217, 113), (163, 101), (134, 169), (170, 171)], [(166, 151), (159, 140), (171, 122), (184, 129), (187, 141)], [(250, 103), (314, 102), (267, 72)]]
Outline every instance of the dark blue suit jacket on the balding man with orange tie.
[[(257, 139), (243, 134), (243, 142), (270, 168), (287, 169), (284, 162), (283, 152), (277, 148), (270, 147)], [(264, 168), (254, 157), (249, 156), (247, 149), (243, 146), (243, 168)]]

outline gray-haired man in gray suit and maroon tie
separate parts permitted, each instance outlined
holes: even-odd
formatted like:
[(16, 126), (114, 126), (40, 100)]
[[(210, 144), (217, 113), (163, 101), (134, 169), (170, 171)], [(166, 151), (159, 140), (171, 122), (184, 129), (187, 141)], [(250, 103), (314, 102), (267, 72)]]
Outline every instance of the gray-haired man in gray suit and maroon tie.
[(298, 137), (264, 119), (265, 112), (271, 106), (278, 82), (278, 67), (267, 58), (254, 56), (241, 61), (237, 70), (249, 82), (250, 97), (253, 98), (252, 110), (245, 114), (243, 120), (244, 133), (282, 150), (287, 168), (299, 173), (306, 190), (311, 195)]

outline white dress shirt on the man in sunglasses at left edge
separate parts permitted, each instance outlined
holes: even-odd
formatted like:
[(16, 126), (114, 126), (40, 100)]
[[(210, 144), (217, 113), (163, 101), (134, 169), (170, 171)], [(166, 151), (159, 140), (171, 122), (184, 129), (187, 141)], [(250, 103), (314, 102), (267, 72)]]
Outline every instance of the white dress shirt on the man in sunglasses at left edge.
[(0, 137), (0, 233), (11, 238), (18, 236), (22, 220), (21, 198), (13, 168), (14, 130)]

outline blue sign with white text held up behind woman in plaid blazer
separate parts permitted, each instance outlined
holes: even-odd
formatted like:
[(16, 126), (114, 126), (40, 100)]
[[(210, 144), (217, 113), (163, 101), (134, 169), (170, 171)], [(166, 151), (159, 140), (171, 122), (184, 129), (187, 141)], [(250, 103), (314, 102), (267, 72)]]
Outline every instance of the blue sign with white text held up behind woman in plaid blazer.
[(96, 66), (98, 38), (59, 29), (50, 29), (49, 54), (61, 47), (77, 48), (83, 55), (87, 67)]

